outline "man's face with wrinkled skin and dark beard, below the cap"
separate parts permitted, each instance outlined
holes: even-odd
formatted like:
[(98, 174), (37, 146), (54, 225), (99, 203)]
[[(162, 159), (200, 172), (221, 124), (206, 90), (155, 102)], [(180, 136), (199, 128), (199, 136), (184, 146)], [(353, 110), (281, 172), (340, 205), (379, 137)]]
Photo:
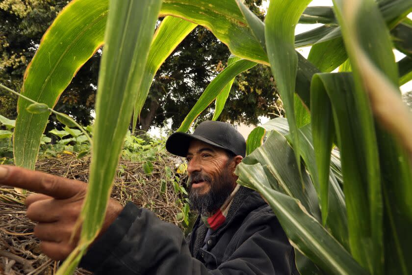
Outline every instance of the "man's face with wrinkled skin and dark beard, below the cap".
[(233, 191), (236, 159), (229, 160), (223, 149), (193, 140), (187, 161), (190, 205), (201, 215), (213, 214)]

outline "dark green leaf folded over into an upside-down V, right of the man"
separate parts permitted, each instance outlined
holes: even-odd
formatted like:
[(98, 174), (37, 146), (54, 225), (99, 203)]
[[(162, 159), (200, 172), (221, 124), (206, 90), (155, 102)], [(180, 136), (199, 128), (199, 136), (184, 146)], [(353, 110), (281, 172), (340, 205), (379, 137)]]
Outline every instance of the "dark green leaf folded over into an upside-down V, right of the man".
[[(313, 141), (315, 152), (318, 152), (316, 165), (322, 173), (319, 178), (329, 173), (330, 155), (325, 151), (330, 152), (330, 133), (333, 131), (332, 118), (325, 116), (333, 115), (341, 152), (351, 252), (363, 267), (372, 270), (373, 257), (382, 253), (382, 239), (375, 239), (374, 235), (374, 231), (379, 230), (382, 234), (382, 220), (381, 223), (376, 221), (379, 217), (382, 219), (382, 198), (370, 193), (380, 188), (380, 171), (374, 123), (367, 99), (363, 99), (366, 107), (360, 109), (357, 104), (361, 99), (354, 92), (354, 83), (348, 73), (315, 75), (310, 93), (314, 107), (311, 109), (315, 123), (312, 128)], [(328, 105), (333, 111), (328, 111), (331, 108)], [(353, 156), (357, 156), (356, 160)], [(372, 207), (374, 212), (370, 211)]]

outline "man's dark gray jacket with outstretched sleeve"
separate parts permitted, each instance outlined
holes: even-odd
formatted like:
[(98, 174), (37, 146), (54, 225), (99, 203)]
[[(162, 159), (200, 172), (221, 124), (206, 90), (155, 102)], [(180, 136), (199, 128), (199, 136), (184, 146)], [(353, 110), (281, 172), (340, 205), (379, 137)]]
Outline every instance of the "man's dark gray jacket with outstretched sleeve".
[(95, 274), (298, 274), (278, 219), (257, 192), (241, 187), (226, 221), (207, 239), (198, 219), (187, 241), (181, 230), (128, 203), (90, 247), (81, 266)]

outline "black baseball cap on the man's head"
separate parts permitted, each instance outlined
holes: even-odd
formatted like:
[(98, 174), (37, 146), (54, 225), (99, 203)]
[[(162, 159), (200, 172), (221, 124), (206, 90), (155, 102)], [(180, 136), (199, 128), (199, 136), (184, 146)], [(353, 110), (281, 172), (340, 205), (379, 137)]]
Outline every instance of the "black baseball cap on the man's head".
[(174, 155), (186, 157), (193, 139), (228, 150), (236, 156), (246, 156), (245, 138), (229, 123), (211, 120), (200, 123), (193, 134), (173, 133), (166, 140), (166, 149)]

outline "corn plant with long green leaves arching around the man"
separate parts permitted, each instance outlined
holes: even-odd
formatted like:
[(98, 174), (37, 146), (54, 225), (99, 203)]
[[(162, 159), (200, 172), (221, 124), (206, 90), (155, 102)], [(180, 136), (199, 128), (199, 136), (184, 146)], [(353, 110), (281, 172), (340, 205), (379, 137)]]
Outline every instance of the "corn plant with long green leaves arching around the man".
[[(23, 95), (52, 108), (105, 46), (81, 238), (60, 274), (74, 270), (99, 233), (129, 118), (134, 113), (135, 126), (156, 70), (197, 25), (232, 56), (179, 131), (213, 101), (217, 119), (238, 74), (257, 63), (271, 67), (287, 121), (253, 131), (237, 173), (272, 206), (299, 271), (412, 273), (412, 118), (399, 91), (412, 78), (412, 2), (309, 2), (271, 0), (265, 22), (241, 0), (73, 0), (62, 10), (26, 70)], [(298, 23), (323, 25), (295, 36)], [(295, 50), (309, 45), (308, 59)], [(398, 63), (394, 47), (406, 55)], [(48, 113), (27, 107), (19, 99), (14, 154), (16, 165), (33, 168)]]

